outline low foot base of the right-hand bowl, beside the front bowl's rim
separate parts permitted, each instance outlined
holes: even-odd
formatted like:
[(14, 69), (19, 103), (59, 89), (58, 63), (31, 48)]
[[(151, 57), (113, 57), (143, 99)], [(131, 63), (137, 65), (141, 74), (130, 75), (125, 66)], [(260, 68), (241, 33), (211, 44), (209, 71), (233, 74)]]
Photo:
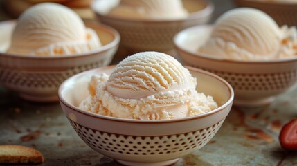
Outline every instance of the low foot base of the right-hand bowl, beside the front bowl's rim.
[(276, 98), (265, 98), (263, 100), (234, 100), (233, 104), (239, 107), (262, 107), (270, 104)]

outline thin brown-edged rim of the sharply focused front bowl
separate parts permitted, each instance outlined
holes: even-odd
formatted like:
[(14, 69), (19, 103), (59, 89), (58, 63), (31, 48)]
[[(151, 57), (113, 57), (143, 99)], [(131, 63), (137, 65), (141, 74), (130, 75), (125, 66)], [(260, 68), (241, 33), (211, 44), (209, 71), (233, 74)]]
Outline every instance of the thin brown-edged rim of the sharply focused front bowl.
[[(112, 66), (105, 66), (102, 67), (101, 69), (112, 69), (114, 68), (116, 65), (112, 65)], [(193, 68), (190, 66), (185, 66), (186, 68), (189, 69), (189, 71), (196, 71), (198, 73), (203, 73), (205, 75), (208, 75), (210, 77), (214, 77), (215, 79), (219, 80), (220, 82), (222, 82), (223, 84), (225, 84), (228, 87), (228, 91), (230, 93), (230, 97), (228, 98), (228, 100), (222, 104), (221, 106), (217, 107), (217, 109), (213, 109), (211, 111), (208, 111), (206, 113), (200, 113), (197, 114), (195, 116), (188, 116), (186, 118), (176, 118), (176, 119), (171, 119), (171, 120), (134, 120), (134, 119), (125, 119), (125, 118), (115, 118), (115, 117), (111, 117), (111, 116), (102, 116), (96, 113), (90, 113), (87, 111), (82, 111), (81, 109), (78, 109), (78, 107), (74, 107), (72, 104), (69, 104), (68, 102), (66, 102), (66, 100), (64, 100), (64, 98), (62, 97), (62, 89), (64, 89), (64, 86), (66, 84), (66, 82), (69, 82), (69, 80), (73, 80), (76, 77), (80, 77), (82, 75), (85, 75), (86, 73), (89, 73), (90, 71), (96, 71), (98, 70), (98, 68), (96, 69), (91, 69), (89, 71), (84, 71), (82, 73), (79, 73), (77, 75), (73, 75), (72, 77), (69, 77), (68, 79), (66, 79), (59, 87), (58, 90), (58, 97), (60, 102), (62, 102), (66, 107), (69, 107), (69, 109), (75, 110), (78, 113), (82, 113), (86, 116), (91, 116), (94, 118), (100, 118), (100, 119), (104, 119), (104, 120), (112, 120), (112, 121), (118, 121), (118, 122), (129, 122), (129, 123), (171, 123), (171, 122), (181, 122), (181, 121), (188, 121), (188, 120), (194, 120), (194, 119), (199, 119), (199, 118), (204, 118), (206, 116), (210, 116), (213, 115), (214, 113), (217, 113), (219, 111), (222, 111), (223, 109), (226, 109), (226, 107), (228, 107), (228, 105), (230, 105), (233, 102), (233, 98), (234, 98), (234, 91), (232, 86), (226, 82), (226, 80), (224, 80), (222, 77), (219, 77), (218, 75), (215, 75), (213, 73), (210, 73), (208, 71), (204, 71), (198, 68)]]

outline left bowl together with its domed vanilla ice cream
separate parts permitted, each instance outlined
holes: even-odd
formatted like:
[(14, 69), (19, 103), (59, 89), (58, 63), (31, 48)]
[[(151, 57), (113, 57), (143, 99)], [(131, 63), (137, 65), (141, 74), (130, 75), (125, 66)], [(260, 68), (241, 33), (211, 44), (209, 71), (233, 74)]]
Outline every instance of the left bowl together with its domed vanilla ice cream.
[(37, 102), (57, 101), (71, 75), (109, 65), (120, 42), (114, 28), (84, 23), (54, 3), (33, 6), (0, 29), (1, 86)]

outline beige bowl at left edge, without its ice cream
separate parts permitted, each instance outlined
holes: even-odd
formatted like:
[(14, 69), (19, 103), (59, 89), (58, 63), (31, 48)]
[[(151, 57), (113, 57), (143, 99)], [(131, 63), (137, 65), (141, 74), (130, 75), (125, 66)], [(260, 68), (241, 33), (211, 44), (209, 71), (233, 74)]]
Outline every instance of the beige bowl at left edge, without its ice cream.
[(102, 47), (89, 53), (64, 57), (36, 57), (6, 53), (16, 21), (0, 23), (0, 84), (16, 91), (21, 98), (36, 102), (57, 101), (57, 89), (71, 75), (107, 66), (111, 62), (120, 35), (109, 26), (86, 23), (98, 33)]

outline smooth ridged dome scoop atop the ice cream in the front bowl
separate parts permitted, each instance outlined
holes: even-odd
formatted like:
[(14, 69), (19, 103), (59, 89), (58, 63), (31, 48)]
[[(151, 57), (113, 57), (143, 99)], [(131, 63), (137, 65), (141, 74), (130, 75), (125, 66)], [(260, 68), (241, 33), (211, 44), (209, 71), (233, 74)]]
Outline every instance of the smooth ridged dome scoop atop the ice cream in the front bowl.
[(170, 56), (146, 53), (124, 59), (110, 75), (107, 91), (120, 98), (144, 98), (174, 89), (195, 89), (195, 79)]

